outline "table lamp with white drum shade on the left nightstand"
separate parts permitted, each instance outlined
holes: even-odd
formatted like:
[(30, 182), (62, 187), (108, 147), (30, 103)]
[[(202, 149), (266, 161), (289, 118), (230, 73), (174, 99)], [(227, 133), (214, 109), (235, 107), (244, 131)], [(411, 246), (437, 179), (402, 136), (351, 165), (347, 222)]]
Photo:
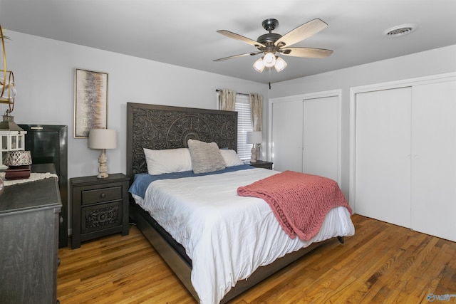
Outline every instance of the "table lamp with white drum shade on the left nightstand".
[(91, 129), (88, 132), (88, 147), (90, 149), (101, 149), (100, 157), (98, 157), (98, 172), (99, 179), (105, 179), (109, 176), (106, 167), (107, 157), (106, 149), (115, 149), (117, 147), (117, 137), (115, 130), (110, 129)]

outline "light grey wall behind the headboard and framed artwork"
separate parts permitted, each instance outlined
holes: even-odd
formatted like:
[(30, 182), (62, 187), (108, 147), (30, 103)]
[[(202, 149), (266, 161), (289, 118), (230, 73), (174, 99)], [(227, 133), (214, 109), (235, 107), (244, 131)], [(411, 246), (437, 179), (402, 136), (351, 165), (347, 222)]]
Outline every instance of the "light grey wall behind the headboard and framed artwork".
[[(119, 53), (9, 31), (6, 65), (18, 95), (17, 124), (68, 125), (68, 178), (98, 174), (100, 151), (74, 138), (74, 70), (108, 73), (108, 127), (118, 132), (118, 148), (107, 150), (108, 173), (126, 172), (126, 103), (215, 109), (217, 88), (267, 97), (267, 87), (223, 75), (148, 61)], [(153, 52), (153, 50), (150, 50)], [(0, 105), (1, 115), (6, 105)]]

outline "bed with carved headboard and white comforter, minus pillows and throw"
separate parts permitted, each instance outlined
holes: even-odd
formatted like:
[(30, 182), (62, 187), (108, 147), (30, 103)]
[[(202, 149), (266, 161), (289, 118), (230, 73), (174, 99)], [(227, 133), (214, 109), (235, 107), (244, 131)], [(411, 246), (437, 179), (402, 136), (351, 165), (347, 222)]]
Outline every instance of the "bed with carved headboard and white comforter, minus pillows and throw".
[[(127, 104), (127, 172), (135, 181), (132, 189), (139, 180), (149, 180), (147, 186), (142, 184), (142, 192), (132, 191), (130, 218), (199, 303), (226, 303), (323, 243), (343, 242), (343, 236), (354, 234), (350, 213), (338, 207), (331, 209), (312, 239), (291, 239), (273, 223), (274, 214), (262, 199), (237, 195), (239, 187), (279, 172), (234, 161), (226, 169), (197, 176), (185, 169), (170, 173), (172, 177), (166, 172), (148, 174), (150, 158), (145, 151), (177, 151), (187, 148), (189, 140), (192, 145), (215, 142), (220, 151), (235, 151), (237, 112)], [(187, 200), (200, 209), (189, 211)], [(179, 222), (184, 218), (192, 225)], [(237, 219), (237, 224), (229, 218)], [(242, 236), (239, 244), (234, 235)], [(284, 243), (276, 246), (275, 238)]]

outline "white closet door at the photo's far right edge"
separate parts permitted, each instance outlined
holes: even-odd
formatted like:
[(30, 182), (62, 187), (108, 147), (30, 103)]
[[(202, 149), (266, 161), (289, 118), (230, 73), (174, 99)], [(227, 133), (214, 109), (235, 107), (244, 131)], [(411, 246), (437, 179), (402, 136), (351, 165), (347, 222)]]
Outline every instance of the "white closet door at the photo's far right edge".
[(456, 81), (413, 86), (412, 229), (456, 241)]

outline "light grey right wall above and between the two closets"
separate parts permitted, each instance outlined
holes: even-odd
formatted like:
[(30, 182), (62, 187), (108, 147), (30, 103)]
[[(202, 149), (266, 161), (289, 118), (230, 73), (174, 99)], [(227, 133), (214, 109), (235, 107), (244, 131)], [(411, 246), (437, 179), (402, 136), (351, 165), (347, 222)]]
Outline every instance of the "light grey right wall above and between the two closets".
[[(341, 188), (348, 197), (350, 186), (350, 88), (455, 71), (456, 45), (274, 83), (269, 91), (269, 98), (316, 93), (326, 90), (342, 90)], [(264, 106), (269, 108), (267, 103)], [(268, 128), (266, 127), (265, 130), (268, 130)]]

